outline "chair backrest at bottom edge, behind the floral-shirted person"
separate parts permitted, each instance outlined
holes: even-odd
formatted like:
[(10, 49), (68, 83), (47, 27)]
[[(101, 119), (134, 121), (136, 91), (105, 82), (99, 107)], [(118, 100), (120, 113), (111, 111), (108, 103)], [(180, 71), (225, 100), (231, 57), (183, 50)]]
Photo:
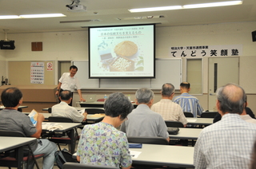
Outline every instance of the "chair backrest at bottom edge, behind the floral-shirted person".
[(110, 167), (110, 166), (98, 166), (98, 165), (91, 165), (85, 163), (64, 163), (62, 169), (90, 169), (90, 168), (98, 168), (98, 169), (119, 169), (118, 167)]

